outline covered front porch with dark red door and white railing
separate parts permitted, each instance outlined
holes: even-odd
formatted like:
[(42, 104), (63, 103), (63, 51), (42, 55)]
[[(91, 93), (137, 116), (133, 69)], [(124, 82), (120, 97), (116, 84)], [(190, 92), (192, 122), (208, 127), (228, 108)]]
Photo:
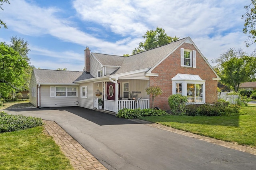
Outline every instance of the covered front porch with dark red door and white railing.
[(102, 91), (100, 97), (94, 96), (94, 109), (99, 109), (99, 99), (103, 99), (103, 111), (118, 113), (119, 110), (148, 109), (149, 95), (146, 88), (148, 79), (111, 79), (109, 81), (94, 82), (94, 91)]

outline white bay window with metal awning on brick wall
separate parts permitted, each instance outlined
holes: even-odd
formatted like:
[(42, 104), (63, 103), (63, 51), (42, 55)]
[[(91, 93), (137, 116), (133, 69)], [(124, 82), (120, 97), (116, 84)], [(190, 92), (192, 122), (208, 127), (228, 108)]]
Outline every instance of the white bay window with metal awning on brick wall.
[(188, 97), (188, 104), (205, 103), (205, 80), (199, 75), (177, 74), (172, 78), (172, 94)]

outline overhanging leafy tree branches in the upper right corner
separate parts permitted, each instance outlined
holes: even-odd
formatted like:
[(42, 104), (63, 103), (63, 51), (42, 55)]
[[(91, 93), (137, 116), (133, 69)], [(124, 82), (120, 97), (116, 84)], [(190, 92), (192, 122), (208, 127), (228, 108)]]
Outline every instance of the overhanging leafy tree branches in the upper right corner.
[(246, 13), (242, 15), (242, 18), (245, 19), (243, 32), (244, 34), (247, 34), (247, 32), (250, 34), (245, 41), (246, 47), (252, 43), (256, 43), (256, 0), (251, 0), (251, 2), (250, 5), (244, 6)]

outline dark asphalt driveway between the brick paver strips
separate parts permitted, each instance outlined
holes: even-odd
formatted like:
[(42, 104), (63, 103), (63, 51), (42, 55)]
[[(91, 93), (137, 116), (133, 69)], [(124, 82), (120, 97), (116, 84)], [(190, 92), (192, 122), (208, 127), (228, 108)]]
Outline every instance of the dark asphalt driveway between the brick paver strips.
[(5, 111), (55, 121), (110, 170), (253, 170), (256, 155), (82, 107)]

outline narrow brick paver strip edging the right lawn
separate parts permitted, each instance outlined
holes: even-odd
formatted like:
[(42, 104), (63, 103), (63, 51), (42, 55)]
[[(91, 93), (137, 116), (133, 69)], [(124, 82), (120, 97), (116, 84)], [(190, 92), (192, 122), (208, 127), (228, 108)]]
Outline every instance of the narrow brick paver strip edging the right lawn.
[(182, 134), (182, 135), (185, 135), (185, 136), (189, 136), (191, 138), (196, 138), (196, 139), (204, 140), (206, 142), (210, 142), (210, 143), (213, 143), (213, 144), (218, 144), (218, 145), (224, 146), (226, 148), (240, 150), (242, 152), (248, 152), (250, 154), (256, 155), (256, 148), (251, 148), (251, 147), (248, 147), (248, 146), (242, 146), (242, 145), (234, 144), (234, 143), (231, 143), (231, 142), (225, 142), (225, 141), (222, 141), (222, 140), (218, 140), (218, 139), (214, 139), (214, 138), (209, 138), (209, 137), (206, 137), (206, 136), (200, 136), (198, 134), (194, 134), (194, 133), (190, 133), (190, 132), (185, 132), (185, 131), (178, 130), (178, 129), (175, 129), (175, 128), (166, 127), (164, 125), (159, 125), (157, 123), (150, 123), (150, 122), (147, 122), (147, 121), (142, 121), (142, 120), (139, 120), (139, 119), (134, 119), (133, 121), (136, 121), (136, 122), (141, 123), (141, 124), (146, 124), (146, 125), (148, 125), (150, 127), (160, 128), (162, 130), (167, 130), (169, 132), (174, 132), (174, 133)]

